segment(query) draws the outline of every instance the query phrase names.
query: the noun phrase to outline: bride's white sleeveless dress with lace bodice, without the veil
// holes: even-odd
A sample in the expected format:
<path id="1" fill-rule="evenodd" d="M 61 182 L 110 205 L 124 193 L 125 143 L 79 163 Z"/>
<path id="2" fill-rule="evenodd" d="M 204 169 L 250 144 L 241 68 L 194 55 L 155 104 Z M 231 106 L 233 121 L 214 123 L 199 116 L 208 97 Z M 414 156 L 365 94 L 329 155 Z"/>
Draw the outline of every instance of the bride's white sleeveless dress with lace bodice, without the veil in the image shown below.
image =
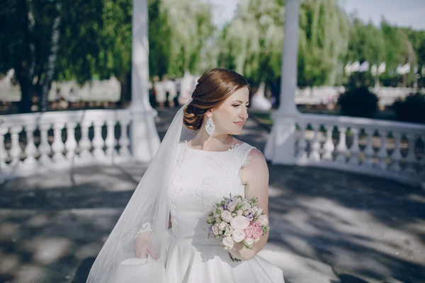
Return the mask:
<path id="1" fill-rule="evenodd" d="M 283 272 L 259 255 L 233 262 L 215 238 L 208 239 L 208 213 L 229 194 L 244 196 L 239 171 L 249 163 L 249 144 L 228 151 L 179 144 L 169 196 L 171 224 L 166 259 L 170 283 L 284 283 Z"/>

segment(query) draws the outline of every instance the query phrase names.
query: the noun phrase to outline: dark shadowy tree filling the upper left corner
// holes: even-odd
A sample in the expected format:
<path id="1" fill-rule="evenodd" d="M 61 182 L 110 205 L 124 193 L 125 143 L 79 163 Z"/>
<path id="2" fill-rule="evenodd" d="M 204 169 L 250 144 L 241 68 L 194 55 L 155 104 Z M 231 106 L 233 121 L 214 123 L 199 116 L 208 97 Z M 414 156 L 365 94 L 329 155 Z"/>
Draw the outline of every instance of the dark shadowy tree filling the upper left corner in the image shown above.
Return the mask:
<path id="1" fill-rule="evenodd" d="M 44 93 L 54 73 L 61 1 L 6 0 L 0 4 L 0 73 L 15 69 L 19 112 L 30 112 L 33 94 Z"/>

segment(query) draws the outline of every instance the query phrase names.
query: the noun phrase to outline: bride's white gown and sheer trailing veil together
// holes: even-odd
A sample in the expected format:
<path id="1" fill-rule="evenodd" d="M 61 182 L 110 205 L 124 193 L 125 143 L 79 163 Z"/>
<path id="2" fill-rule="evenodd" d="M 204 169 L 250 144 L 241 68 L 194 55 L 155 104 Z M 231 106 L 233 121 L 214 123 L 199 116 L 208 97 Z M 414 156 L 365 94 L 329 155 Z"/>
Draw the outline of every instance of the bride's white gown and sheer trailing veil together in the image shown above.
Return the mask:
<path id="1" fill-rule="evenodd" d="M 87 283 L 134 282 L 137 278 L 137 283 L 145 283 L 152 280 L 142 278 L 155 276 L 159 278 L 153 282 L 159 283 L 283 283 L 282 271 L 259 256 L 232 262 L 216 240 L 206 241 L 208 226 L 203 217 L 210 204 L 229 192 L 244 195 L 239 170 L 249 162 L 252 146 L 241 144 L 223 152 L 187 148 L 186 141 L 180 141 L 192 139 L 195 133 L 183 127 L 185 106 L 171 122 L 91 267 Z M 168 231 L 170 214 L 174 217 Z M 154 262 L 135 259 L 134 237 L 147 222 L 152 224 L 150 247 L 159 256 Z M 147 265 L 151 263 L 152 268 Z"/>

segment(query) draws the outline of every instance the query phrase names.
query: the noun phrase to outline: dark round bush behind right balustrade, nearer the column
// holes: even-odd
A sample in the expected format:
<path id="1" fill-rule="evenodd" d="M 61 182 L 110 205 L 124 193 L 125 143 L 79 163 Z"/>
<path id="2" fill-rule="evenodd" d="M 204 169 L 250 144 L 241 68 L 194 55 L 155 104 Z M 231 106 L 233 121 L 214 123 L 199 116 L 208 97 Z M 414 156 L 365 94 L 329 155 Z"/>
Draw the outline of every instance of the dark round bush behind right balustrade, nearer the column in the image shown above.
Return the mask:
<path id="1" fill-rule="evenodd" d="M 353 117 L 373 117 L 378 110 L 378 96 L 366 86 L 349 89 L 338 98 L 342 115 Z"/>

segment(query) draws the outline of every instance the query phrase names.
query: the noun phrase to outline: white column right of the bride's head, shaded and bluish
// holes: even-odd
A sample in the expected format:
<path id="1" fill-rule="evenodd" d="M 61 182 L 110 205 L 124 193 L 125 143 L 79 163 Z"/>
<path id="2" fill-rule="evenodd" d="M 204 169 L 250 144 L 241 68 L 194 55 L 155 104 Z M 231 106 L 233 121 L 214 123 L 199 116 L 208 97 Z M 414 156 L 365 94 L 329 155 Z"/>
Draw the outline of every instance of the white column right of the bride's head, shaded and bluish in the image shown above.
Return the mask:
<path id="1" fill-rule="evenodd" d="M 283 60 L 280 80 L 280 105 L 273 113 L 273 128 L 266 144 L 264 155 L 272 163 L 295 163 L 295 123 L 298 112 L 295 106 L 297 90 L 299 0 L 285 2 L 285 30 Z"/>

